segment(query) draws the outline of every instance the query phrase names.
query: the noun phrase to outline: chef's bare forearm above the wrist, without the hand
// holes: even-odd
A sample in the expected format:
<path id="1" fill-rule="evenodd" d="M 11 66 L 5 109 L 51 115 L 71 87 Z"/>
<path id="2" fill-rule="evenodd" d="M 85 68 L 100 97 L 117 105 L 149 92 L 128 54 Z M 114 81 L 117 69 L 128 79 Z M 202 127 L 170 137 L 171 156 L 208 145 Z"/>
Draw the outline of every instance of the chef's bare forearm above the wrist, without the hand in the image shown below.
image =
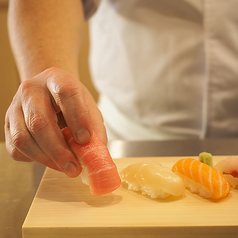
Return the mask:
<path id="1" fill-rule="evenodd" d="M 50 67 L 78 78 L 81 0 L 10 0 L 9 35 L 21 80 Z"/>

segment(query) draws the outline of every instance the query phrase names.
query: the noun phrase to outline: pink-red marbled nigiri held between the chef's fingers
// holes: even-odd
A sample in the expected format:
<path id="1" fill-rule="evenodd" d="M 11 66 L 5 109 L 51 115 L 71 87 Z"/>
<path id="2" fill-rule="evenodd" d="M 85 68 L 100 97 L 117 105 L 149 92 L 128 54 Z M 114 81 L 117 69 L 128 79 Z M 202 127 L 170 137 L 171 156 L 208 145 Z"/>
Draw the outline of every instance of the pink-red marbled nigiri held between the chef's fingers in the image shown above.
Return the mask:
<path id="1" fill-rule="evenodd" d="M 117 189 L 121 179 L 107 147 L 93 133 L 91 141 L 85 145 L 78 144 L 68 127 L 62 133 L 82 165 L 82 181 L 90 186 L 93 195 L 103 195 Z"/>

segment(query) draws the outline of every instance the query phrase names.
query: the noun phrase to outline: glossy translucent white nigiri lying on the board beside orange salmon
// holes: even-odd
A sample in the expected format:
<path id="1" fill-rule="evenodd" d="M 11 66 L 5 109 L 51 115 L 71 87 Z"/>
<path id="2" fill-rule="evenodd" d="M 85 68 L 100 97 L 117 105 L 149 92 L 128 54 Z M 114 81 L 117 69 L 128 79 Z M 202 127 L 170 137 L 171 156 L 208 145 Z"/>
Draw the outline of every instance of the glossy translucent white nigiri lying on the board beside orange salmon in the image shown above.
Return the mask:
<path id="1" fill-rule="evenodd" d="M 120 175 L 122 181 L 128 184 L 129 190 L 152 198 L 180 196 L 185 192 L 183 180 L 160 164 L 131 164 L 124 168 Z"/>

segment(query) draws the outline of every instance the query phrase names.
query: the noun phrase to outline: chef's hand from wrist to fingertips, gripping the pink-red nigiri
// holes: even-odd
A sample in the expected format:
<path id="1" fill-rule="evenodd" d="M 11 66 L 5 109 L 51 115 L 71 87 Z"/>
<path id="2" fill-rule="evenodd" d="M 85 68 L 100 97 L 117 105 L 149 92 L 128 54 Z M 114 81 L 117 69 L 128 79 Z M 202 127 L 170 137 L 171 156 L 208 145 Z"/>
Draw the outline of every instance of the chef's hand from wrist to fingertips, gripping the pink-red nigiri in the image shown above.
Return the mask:
<path id="1" fill-rule="evenodd" d="M 50 68 L 24 81 L 6 113 L 8 153 L 17 161 L 37 161 L 76 177 L 81 166 L 68 147 L 61 127 L 84 144 L 92 132 L 106 144 L 106 131 L 88 90 L 71 74 Z"/>

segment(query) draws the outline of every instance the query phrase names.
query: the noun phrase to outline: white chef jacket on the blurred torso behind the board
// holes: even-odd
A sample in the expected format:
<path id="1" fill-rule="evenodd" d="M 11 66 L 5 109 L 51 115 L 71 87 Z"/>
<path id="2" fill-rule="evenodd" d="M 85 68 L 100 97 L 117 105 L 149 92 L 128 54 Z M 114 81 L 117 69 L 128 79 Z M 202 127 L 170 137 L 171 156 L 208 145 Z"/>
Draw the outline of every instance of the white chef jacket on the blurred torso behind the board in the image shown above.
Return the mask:
<path id="1" fill-rule="evenodd" d="M 237 0 L 84 3 L 112 139 L 238 136 Z"/>

